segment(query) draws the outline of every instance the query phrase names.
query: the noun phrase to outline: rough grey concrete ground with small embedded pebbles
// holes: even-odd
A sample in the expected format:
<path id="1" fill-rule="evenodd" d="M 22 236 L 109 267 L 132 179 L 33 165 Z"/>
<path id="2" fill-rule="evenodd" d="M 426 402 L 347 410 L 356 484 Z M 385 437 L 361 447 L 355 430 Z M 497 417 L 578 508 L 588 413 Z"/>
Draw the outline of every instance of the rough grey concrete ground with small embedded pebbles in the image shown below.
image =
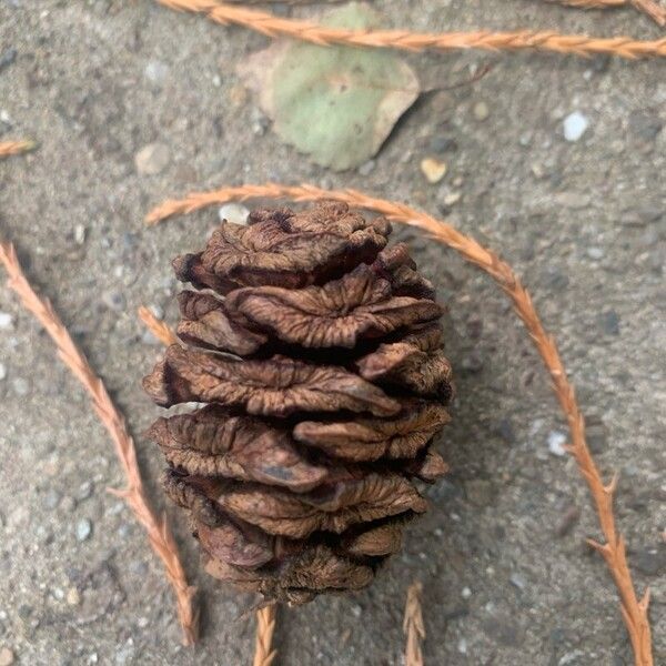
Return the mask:
<path id="1" fill-rule="evenodd" d="M 395 26 L 420 29 L 659 34 L 633 11 L 538 0 L 379 4 Z M 664 64 L 411 57 L 427 88 L 460 82 L 472 65 L 493 69 L 471 88 L 420 101 L 362 176 L 326 173 L 282 147 L 243 94 L 235 65 L 265 43 L 149 0 L 0 0 L 0 134 L 41 143 L 0 164 L 2 235 L 140 433 L 155 410 L 139 381 L 160 349 L 135 309 L 153 305 L 173 322 L 169 260 L 200 245 L 216 219 L 211 210 L 145 229 L 151 204 L 275 179 L 361 186 L 446 215 L 516 266 L 557 334 L 601 465 L 622 475 L 619 525 L 637 584 L 653 588 L 656 663 L 666 663 Z M 474 112 L 480 102 L 485 120 Z M 563 119 L 575 110 L 589 129 L 568 143 Z M 163 170 L 141 175 L 134 157 L 153 142 L 165 147 Z M 436 186 L 418 169 L 431 154 L 448 164 Z M 462 198 L 448 210 L 452 192 Z M 629 664 L 615 592 L 584 545 L 598 535 L 587 494 L 573 461 L 548 450 L 564 426 L 529 341 L 485 276 L 401 235 L 451 309 L 460 397 L 441 448 L 453 473 L 432 488 L 432 512 L 371 589 L 281 613 L 280 664 L 401 664 L 404 595 L 415 578 L 425 585 L 428 664 Z M 204 620 L 199 647 L 180 647 L 160 564 L 105 492 L 122 485 L 105 432 L 3 286 L 0 311 L 12 317 L 0 330 L 3 663 L 11 653 L 20 664 L 248 664 L 253 623 L 241 616 L 253 601 L 201 575 L 182 522 Z M 159 454 L 138 445 L 163 506 Z"/>

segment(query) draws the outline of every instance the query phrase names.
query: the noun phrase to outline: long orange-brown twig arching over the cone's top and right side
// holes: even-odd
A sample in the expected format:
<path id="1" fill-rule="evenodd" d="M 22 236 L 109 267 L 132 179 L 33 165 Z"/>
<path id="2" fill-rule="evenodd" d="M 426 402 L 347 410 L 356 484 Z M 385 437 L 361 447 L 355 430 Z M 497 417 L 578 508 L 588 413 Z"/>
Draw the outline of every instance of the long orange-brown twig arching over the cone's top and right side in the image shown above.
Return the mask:
<path id="1" fill-rule="evenodd" d="M 190 213 L 206 205 L 253 198 L 287 198 L 293 201 L 333 199 L 346 202 L 355 208 L 376 211 L 390 220 L 410 224 L 425 231 L 431 238 L 448 245 L 468 262 L 483 269 L 497 282 L 512 301 L 517 315 L 525 324 L 536 350 L 551 374 L 555 395 L 568 422 L 572 437 L 572 445 L 568 451 L 576 460 L 578 470 L 589 487 L 598 514 L 602 533 L 606 539 L 605 544 L 594 541 L 589 543 L 604 557 L 619 593 L 622 615 L 634 649 L 635 664 L 636 666 L 653 666 L 650 627 L 647 616 L 649 591 L 645 593 L 642 599 L 637 598 L 634 591 L 632 574 L 626 558 L 625 542 L 616 529 L 613 514 L 613 495 L 615 493 L 616 478 L 609 484 L 604 484 L 602 475 L 587 447 L 583 414 L 576 402 L 574 389 L 567 379 L 557 345 L 554 339 L 545 331 L 529 294 L 511 266 L 474 239 L 464 235 L 453 226 L 440 222 L 426 213 L 401 203 L 384 199 L 374 199 L 356 190 L 323 190 L 313 185 L 290 186 L 275 183 L 223 188 L 213 192 L 193 193 L 180 201 L 167 201 L 148 214 L 147 222 L 154 224 L 170 215 Z"/>

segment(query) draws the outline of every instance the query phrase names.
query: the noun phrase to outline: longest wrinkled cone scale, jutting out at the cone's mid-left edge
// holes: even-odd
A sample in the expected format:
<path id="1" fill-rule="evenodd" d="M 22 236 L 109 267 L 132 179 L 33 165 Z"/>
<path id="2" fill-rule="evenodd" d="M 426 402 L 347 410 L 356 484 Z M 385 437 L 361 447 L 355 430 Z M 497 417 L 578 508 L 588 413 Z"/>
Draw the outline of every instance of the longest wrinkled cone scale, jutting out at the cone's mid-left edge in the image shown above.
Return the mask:
<path id="1" fill-rule="evenodd" d="M 240 361 L 171 345 L 143 379 L 143 387 L 164 407 L 183 402 L 243 406 L 250 414 L 287 416 L 297 412 L 371 412 L 391 416 L 400 403 L 355 374 L 284 356 Z"/>

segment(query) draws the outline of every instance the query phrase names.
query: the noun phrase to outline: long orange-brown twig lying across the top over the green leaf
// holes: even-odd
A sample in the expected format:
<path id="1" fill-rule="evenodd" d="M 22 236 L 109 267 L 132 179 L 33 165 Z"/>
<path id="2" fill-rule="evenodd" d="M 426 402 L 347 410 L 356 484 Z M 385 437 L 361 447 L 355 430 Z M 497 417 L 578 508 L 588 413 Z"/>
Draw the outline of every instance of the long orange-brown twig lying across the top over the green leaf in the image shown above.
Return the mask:
<path id="1" fill-rule="evenodd" d="M 410 32 L 408 30 L 351 30 L 330 28 L 312 21 L 280 18 L 272 13 L 232 7 L 216 0 L 155 0 L 170 9 L 205 14 L 223 26 L 236 24 L 268 37 L 290 37 L 320 46 L 347 44 L 423 51 L 435 49 L 536 50 L 576 56 L 610 54 L 620 58 L 665 58 L 666 38 L 640 41 L 630 37 L 597 38 L 586 34 L 559 34 L 549 30 L 515 32 Z"/>

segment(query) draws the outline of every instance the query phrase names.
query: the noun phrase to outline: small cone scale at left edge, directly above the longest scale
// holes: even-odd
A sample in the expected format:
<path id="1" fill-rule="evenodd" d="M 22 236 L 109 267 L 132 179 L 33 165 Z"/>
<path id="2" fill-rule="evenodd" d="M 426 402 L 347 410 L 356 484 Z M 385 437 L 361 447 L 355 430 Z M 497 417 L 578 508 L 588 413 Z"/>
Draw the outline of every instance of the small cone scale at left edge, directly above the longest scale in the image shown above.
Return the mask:
<path id="1" fill-rule="evenodd" d="M 183 342 L 240 356 L 253 354 L 266 342 L 265 335 L 251 331 L 243 317 L 231 315 L 215 296 L 183 291 L 178 302 L 182 320 L 176 332 Z"/>

